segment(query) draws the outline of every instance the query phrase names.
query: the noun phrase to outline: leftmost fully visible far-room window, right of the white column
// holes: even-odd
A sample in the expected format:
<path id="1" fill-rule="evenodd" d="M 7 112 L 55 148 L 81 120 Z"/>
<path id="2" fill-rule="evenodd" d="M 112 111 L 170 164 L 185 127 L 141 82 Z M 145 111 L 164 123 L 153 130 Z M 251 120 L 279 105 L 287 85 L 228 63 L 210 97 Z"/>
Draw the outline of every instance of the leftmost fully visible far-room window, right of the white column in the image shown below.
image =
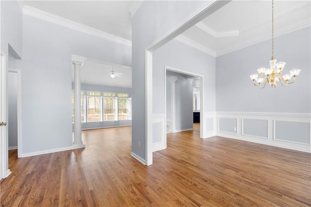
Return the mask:
<path id="1" fill-rule="evenodd" d="M 102 120 L 102 93 L 87 91 L 87 122 Z"/>

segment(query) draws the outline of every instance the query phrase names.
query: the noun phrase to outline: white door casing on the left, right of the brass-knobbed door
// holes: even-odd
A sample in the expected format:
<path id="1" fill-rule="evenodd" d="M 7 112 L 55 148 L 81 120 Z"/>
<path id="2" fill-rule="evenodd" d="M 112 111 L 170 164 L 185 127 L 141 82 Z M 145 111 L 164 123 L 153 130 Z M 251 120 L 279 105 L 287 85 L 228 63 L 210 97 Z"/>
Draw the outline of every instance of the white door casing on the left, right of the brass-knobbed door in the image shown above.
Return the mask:
<path id="1" fill-rule="evenodd" d="M 22 157 L 22 135 L 21 135 L 21 70 L 8 69 L 8 72 L 17 73 L 17 157 Z"/>

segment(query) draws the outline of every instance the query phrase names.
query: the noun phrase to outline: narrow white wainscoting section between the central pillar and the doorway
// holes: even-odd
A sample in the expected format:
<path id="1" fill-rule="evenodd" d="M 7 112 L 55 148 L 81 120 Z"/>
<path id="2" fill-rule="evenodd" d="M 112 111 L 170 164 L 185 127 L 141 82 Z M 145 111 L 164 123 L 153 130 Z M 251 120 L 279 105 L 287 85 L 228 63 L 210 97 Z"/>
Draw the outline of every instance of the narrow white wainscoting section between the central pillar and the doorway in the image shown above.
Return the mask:
<path id="1" fill-rule="evenodd" d="M 152 115 L 152 149 L 153 152 L 166 149 L 165 114 Z"/>

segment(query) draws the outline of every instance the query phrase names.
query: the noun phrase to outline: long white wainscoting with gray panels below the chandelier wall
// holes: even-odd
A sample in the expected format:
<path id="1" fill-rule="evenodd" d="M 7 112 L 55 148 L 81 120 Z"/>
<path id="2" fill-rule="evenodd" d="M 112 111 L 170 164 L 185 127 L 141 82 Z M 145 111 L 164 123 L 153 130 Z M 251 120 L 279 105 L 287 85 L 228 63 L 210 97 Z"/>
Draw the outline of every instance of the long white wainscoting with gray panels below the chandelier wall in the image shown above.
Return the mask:
<path id="1" fill-rule="evenodd" d="M 311 153 L 311 114 L 216 112 L 216 119 L 216 136 Z"/>

